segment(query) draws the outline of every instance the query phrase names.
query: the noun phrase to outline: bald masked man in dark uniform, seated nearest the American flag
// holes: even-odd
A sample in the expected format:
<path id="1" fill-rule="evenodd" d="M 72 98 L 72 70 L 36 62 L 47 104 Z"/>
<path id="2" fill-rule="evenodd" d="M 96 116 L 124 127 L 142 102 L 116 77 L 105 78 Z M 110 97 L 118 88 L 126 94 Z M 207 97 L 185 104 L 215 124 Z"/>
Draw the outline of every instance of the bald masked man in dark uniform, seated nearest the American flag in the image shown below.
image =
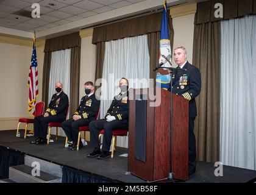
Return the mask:
<path id="1" fill-rule="evenodd" d="M 66 108 L 68 107 L 68 96 L 62 91 L 63 85 L 60 82 L 55 83 L 55 93 L 52 96 L 49 107 L 44 112 L 44 115 L 35 117 L 34 121 L 34 141 L 30 144 L 45 144 L 47 143 L 46 135 L 49 122 L 62 122 L 66 119 Z"/>

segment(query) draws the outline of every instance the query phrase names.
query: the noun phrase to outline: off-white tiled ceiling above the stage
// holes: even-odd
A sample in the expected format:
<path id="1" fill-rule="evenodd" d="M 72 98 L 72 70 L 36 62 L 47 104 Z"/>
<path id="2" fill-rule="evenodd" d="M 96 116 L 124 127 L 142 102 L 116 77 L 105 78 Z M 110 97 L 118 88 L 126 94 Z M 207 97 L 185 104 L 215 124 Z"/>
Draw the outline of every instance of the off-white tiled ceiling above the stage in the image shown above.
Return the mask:
<path id="1" fill-rule="evenodd" d="M 195 0 L 167 0 L 168 6 Z M 32 4 L 40 18 L 32 18 Z M 0 0 L 0 35 L 52 38 L 162 9 L 163 0 Z"/>

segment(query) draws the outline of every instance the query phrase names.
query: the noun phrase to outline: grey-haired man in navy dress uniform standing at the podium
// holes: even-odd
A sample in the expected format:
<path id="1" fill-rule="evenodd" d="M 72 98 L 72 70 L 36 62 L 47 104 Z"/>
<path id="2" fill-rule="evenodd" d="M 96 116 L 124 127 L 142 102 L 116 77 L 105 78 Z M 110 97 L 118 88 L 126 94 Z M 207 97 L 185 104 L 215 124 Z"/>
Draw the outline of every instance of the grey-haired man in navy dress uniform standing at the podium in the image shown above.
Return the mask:
<path id="1" fill-rule="evenodd" d="M 196 171 L 196 138 L 193 130 L 197 111 L 194 98 L 201 91 L 201 74 L 198 68 L 187 61 L 187 51 L 182 46 L 174 49 L 174 60 L 181 70 L 174 71 L 172 76 L 172 93 L 176 93 L 189 101 L 188 174 L 191 176 Z"/>

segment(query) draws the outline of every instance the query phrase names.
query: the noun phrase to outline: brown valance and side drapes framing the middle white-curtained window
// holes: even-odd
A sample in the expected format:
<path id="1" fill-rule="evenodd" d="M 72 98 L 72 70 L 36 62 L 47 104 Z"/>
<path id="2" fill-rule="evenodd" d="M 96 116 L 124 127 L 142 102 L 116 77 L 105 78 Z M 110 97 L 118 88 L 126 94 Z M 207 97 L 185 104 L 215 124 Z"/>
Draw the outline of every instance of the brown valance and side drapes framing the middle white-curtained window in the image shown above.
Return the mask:
<path id="1" fill-rule="evenodd" d="M 150 76 L 155 80 L 156 73 L 152 71 L 159 59 L 159 39 L 161 30 L 162 12 L 148 16 L 128 19 L 118 23 L 109 24 L 93 29 L 93 43 L 97 44 L 97 59 L 95 80 L 102 78 L 105 43 L 104 41 L 116 40 L 119 38 L 133 37 L 148 34 L 148 46 L 150 56 Z M 171 40 L 171 49 L 173 46 L 174 30 L 172 18 L 169 16 L 169 36 Z M 97 90 L 96 87 L 95 89 Z"/>

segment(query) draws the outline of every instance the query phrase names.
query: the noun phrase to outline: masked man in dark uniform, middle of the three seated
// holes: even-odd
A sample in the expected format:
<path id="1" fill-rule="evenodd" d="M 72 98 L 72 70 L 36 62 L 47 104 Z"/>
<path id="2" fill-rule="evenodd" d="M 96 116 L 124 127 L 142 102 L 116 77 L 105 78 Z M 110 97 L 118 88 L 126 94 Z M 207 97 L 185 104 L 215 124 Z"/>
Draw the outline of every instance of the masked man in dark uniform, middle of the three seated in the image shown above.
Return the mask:
<path id="1" fill-rule="evenodd" d="M 99 101 L 93 92 L 93 82 L 88 81 L 85 83 L 85 94 L 71 119 L 62 122 L 62 129 L 66 133 L 69 141 L 73 141 L 73 144 L 69 146 L 72 151 L 76 150 L 77 138 L 80 126 L 87 126 L 89 122 L 94 120 L 96 113 L 99 110 Z M 80 140 L 79 148 L 83 146 Z"/>

